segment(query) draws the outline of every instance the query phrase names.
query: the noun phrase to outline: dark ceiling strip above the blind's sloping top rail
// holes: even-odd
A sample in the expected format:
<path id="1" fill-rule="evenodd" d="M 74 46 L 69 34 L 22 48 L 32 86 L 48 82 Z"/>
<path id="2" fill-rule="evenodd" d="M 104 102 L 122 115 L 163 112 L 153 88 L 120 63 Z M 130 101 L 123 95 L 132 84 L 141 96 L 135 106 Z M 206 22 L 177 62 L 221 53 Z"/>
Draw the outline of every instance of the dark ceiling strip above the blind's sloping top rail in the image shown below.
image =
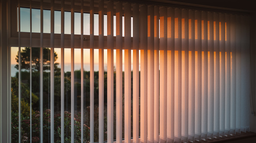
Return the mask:
<path id="1" fill-rule="evenodd" d="M 215 11 L 233 14 L 256 12 L 256 0 L 117 0 L 130 3 Z"/>

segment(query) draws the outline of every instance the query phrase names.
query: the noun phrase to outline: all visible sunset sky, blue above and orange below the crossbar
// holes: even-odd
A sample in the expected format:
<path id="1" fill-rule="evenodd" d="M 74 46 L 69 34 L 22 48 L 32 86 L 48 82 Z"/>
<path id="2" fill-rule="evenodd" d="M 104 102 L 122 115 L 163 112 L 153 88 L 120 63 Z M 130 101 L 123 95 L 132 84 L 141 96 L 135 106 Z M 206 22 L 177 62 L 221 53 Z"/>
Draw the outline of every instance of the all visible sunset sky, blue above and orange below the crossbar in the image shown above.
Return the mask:
<path id="1" fill-rule="evenodd" d="M 50 10 L 43 10 L 43 32 L 50 33 L 51 30 L 51 11 Z M 20 15 L 21 15 L 21 22 L 20 22 L 20 29 L 21 32 L 30 32 L 30 8 L 20 8 Z M 71 12 L 64 13 L 64 33 L 71 34 Z M 75 34 L 81 33 L 81 13 L 75 12 Z M 123 36 L 124 36 L 124 17 L 123 20 Z M 90 35 L 90 14 L 84 13 L 84 35 Z M 131 36 L 133 36 L 133 18 L 131 18 Z M 32 32 L 40 33 L 40 9 L 32 9 Z M 61 33 L 61 12 L 54 11 L 54 33 L 60 34 Z M 94 35 L 98 35 L 98 14 L 94 14 Z M 104 15 L 104 36 L 107 36 L 107 15 Z M 116 36 L 116 16 L 114 16 L 114 36 Z M 65 49 L 65 63 L 71 63 L 71 50 Z M 11 64 L 16 64 L 15 56 L 17 55 L 18 48 L 12 48 L 11 51 Z M 54 52 L 57 53 L 58 59 L 56 62 L 60 63 L 60 48 L 54 48 Z M 94 50 L 94 62 L 98 64 L 98 49 Z M 107 50 L 104 50 L 104 63 L 107 63 Z M 131 54 L 131 58 L 133 55 Z M 14 57 L 14 58 L 13 58 Z M 114 63 L 116 58 L 116 52 L 114 52 Z M 75 61 L 76 64 L 81 62 L 81 50 L 75 49 Z M 84 49 L 84 63 L 90 63 L 90 50 Z M 124 50 L 123 50 L 123 63 L 124 63 Z"/>

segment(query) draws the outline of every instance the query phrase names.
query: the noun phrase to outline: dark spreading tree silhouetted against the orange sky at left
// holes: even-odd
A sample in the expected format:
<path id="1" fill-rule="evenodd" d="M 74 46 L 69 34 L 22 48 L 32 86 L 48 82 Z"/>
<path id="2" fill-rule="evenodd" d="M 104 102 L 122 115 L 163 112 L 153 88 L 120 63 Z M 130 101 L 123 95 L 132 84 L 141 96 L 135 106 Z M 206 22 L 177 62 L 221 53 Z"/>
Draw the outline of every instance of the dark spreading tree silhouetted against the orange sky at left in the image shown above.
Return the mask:
<path id="1" fill-rule="evenodd" d="M 50 53 L 51 50 L 49 48 L 43 48 L 43 71 L 50 70 Z M 30 48 L 25 47 L 20 54 L 21 69 L 30 70 Z M 54 62 L 57 58 L 57 54 L 54 52 Z M 19 63 L 19 53 L 15 59 L 17 63 Z M 58 65 L 59 63 L 54 63 L 54 71 L 59 71 L 59 68 L 57 68 Z M 18 70 L 19 64 L 17 64 L 15 68 Z M 32 71 L 40 71 L 40 48 L 32 48 Z"/>

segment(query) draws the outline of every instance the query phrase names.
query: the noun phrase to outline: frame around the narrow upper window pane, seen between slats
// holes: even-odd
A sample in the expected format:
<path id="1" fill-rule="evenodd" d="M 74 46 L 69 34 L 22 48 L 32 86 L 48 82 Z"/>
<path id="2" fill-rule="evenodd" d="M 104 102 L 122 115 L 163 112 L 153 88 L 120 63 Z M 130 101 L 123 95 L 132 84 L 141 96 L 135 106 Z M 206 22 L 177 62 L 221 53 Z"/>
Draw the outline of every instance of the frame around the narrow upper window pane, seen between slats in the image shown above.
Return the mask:
<path id="1" fill-rule="evenodd" d="M 30 8 L 28 3 L 24 1 L 20 1 L 20 7 L 21 8 Z M 88 2 L 88 1 L 87 1 Z M 51 3 L 44 2 L 43 9 L 44 10 L 50 10 Z M 85 3 L 84 4 L 84 13 L 90 13 L 90 4 Z M 105 4 L 106 5 L 106 4 Z M 70 5 L 65 2 L 64 11 L 70 12 Z M 11 3 L 11 36 L 9 37 L 9 45 L 10 47 L 18 47 L 18 17 L 17 17 L 17 9 L 18 9 L 18 1 L 15 0 L 13 3 Z M 40 9 L 40 2 L 34 2 L 32 1 L 32 9 Z M 56 11 L 61 10 L 61 5 L 55 3 L 54 9 Z M 98 7 L 94 7 L 95 14 L 98 11 Z M 115 13 L 114 8 L 114 13 Z M 75 12 L 80 13 L 80 6 L 75 5 Z M 107 14 L 107 9 L 104 8 L 104 15 Z M 21 47 L 28 47 L 30 46 L 30 32 L 20 32 L 20 41 L 21 41 Z M 84 37 L 84 43 L 83 47 L 85 49 L 90 48 L 90 35 L 83 35 Z M 71 48 L 71 34 L 64 34 L 64 48 Z M 94 48 L 98 49 L 99 45 L 99 36 L 94 35 Z M 51 33 L 43 33 L 43 47 L 51 47 Z M 114 49 L 116 49 L 116 36 L 114 36 Z M 131 42 L 133 42 L 133 37 L 131 37 Z M 75 34 L 75 47 L 74 48 L 81 48 L 81 35 Z M 122 37 L 122 43 L 124 45 L 124 37 Z M 40 47 L 40 33 L 32 32 L 32 47 Z M 61 47 L 61 34 L 54 34 L 54 48 L 62 48 Z M 133 44 L 131 45 L 131 48 L 133 49 Z M 107 49 L 107 36 L 104 36 L 104 49 Z M 124 49 L 124 47 L 123 47 Z"/>

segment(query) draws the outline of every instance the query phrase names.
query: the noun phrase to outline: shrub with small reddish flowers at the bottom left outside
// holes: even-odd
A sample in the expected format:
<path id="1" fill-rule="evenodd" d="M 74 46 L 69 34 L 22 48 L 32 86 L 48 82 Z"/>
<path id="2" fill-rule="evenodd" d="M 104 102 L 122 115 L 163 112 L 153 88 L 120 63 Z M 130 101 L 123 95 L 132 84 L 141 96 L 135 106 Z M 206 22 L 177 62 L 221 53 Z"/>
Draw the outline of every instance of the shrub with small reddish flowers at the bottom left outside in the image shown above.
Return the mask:
<path id="1" fill-rule="evenodd" d="M 51 131 L 51 110 L 45 110 L 43 112 L 43 140 L 48 142 Z M 74 131 L 75 142 L 81 142 L 81 113 L 75 115 Z M 65 138 L 64 142 L 69 143 L 71 141 L 71 113 L 64 112 L 64 130 Z M 19 114 L 16 112 L 11 113 L 11 142 L 19 142 Z M 90 141 L 90 128 L 84 124 L 83 126 L 83 141 Z M 54 115 L 54 142 L 60 143 L 61 137 L 61 116 Z M 32 143 L 38 143 L 40 140 L 40 112 L 35 111 L 32 113 Z M 30 142 L 30 116 L 24 116 L 21 114 L 21 142 Z"/>

